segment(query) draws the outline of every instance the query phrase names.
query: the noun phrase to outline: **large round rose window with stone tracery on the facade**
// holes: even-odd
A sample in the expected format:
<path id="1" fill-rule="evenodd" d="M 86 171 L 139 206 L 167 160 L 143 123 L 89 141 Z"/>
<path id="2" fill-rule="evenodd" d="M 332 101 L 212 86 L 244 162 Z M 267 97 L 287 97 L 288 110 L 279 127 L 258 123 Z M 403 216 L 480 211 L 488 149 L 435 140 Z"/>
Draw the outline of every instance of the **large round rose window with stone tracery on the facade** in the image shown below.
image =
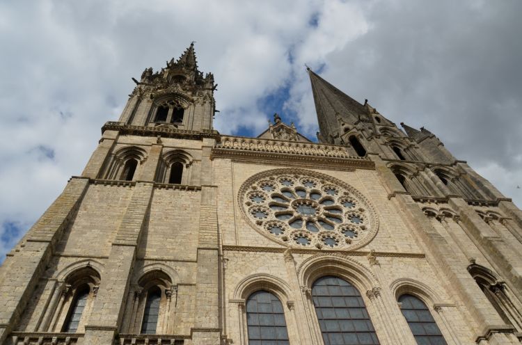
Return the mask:
<path id="1" fill-rule="evenodd" d="M 354 187 L 311 170 L 260 172 L 244 182 L 238 201 L 256 231 L 289 248 L 354 250 L 379 228 L 374 207 Z"/>

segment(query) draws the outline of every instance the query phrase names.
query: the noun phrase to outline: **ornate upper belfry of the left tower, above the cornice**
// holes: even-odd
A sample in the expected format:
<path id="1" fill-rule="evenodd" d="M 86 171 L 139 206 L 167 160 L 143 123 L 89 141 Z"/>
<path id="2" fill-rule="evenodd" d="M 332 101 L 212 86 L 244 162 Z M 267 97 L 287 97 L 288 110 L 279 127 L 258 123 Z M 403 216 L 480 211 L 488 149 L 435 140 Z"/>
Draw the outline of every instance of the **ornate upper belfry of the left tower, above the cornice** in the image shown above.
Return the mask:
<path id="1" fill-rule="evenodd" d="M 212 129 L 214 76 L 198 70 L 194 45 L 166 67 L 146 68 L 120 116 L 126 125 L 203 131 Z"/>

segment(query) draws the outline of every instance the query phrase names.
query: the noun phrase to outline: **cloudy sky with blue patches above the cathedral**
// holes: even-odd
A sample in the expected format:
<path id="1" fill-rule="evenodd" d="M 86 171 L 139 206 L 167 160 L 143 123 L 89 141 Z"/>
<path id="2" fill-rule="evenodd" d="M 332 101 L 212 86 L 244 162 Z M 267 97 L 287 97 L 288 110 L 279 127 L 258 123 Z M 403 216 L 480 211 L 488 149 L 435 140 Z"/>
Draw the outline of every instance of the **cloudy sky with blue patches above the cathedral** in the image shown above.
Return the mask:
<path id="1" fill-rule="evenodd" d="M 0 1 L 0 262 L 117 120 L 145 67 L 196 41 L 216 129 L 278 112 L 315 137 L 306 63 L 425 126 L 522 205 L 522 1 Z"/>

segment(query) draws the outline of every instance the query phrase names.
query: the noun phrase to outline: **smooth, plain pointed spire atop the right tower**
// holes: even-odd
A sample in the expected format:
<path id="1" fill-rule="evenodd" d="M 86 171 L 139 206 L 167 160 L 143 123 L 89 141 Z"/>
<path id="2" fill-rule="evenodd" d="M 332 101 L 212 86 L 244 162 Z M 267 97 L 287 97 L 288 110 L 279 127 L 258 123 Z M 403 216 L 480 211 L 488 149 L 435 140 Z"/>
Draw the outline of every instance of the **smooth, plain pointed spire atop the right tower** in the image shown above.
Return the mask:
<path id="1" fill-rule="evenodd" d="M 319 77 L 310 67 L 306 67 L 312 83 L 315 111 L 319 121 L 319 129 L 324 138 L 333 142 L 340 133 L 338 118 L 347 124 L 353 124 L 368 114 L 367 108 L 349 97 L 331 83 Z"/>

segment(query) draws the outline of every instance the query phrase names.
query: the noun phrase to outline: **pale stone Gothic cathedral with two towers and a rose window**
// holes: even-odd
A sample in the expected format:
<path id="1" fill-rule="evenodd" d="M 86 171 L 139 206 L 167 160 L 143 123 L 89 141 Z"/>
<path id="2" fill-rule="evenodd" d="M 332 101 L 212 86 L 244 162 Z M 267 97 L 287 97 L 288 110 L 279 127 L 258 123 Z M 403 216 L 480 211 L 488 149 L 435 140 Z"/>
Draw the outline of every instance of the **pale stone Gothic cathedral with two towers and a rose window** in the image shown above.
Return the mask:
<path id="1" fill-rule="evenodd" d="M 307 72 L 317 143 L 216 131 L 193 45 L 145 69 L 1 266 L 0 344 L 520 345 L 522 211 Z"/>

